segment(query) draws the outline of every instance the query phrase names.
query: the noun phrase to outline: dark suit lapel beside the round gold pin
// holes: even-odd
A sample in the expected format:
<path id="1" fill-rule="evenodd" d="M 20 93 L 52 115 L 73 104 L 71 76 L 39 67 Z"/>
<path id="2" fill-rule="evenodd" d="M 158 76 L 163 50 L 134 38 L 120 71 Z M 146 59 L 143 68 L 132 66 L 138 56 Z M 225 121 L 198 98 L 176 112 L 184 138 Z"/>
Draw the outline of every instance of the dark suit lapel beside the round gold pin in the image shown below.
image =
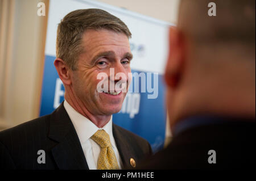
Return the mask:
<path id="1" fill-rule="evenodd" d="M 123 169 L 132 169 L 130 165 L 130 158 L 135 158 L 135 154 L 131 153 L 131 149 L 129 148 L 129 143 L 127 142 L 127 138 L 125 138 L 121 131 L 119 131 L 117 125 L 113 124 L 113 136 L 115 139 L 115 144 L 117 144 L 117 149 L 119 155 L 122 159 Z"/>

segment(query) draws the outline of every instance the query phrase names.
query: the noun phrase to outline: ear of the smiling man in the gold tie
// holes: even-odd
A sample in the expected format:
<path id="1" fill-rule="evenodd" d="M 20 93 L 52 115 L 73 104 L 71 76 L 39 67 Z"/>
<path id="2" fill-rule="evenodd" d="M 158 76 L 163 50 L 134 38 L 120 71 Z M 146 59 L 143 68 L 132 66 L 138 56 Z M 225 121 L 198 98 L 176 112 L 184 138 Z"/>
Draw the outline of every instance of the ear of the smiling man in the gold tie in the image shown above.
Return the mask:
<path id="1" fill-rule="evenodd" d="M 60 58 L 55 59 L 54 65 L 64 85 L 71 85 L 71 69 Z"/>

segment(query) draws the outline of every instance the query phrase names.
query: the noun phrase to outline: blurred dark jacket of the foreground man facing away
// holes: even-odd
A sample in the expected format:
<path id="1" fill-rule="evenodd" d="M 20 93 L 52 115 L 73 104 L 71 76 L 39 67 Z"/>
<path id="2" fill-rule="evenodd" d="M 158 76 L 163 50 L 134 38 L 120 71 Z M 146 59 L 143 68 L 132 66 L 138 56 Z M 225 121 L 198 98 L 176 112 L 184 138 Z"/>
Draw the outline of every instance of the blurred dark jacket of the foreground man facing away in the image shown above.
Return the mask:
<path id="1" fill-rule="evenodd" d="M 254 120 L 255 121 L 255 120 Z M 216 151 L 216 163 L 209 163 Z M 212 161 L 212 157 L 210 157 Z M 255 123 L 223 120 L 180 132 L 166 149 L 147 159 L 137 169 L 253 169 L 255 168 Z"/>

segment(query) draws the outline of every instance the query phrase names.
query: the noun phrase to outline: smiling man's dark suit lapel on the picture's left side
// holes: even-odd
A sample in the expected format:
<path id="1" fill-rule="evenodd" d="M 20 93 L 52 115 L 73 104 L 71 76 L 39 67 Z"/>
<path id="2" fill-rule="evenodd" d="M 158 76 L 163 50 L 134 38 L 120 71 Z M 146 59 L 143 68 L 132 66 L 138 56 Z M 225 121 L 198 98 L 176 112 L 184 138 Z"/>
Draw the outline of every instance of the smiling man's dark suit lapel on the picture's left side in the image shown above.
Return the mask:
<path id="1" fill-rule="evenodd" d="M 89 169 L 79 137 L 63 103 L 51 115 L 48 137 L 58 142 L 51 151 L 59 169 Z"/>

